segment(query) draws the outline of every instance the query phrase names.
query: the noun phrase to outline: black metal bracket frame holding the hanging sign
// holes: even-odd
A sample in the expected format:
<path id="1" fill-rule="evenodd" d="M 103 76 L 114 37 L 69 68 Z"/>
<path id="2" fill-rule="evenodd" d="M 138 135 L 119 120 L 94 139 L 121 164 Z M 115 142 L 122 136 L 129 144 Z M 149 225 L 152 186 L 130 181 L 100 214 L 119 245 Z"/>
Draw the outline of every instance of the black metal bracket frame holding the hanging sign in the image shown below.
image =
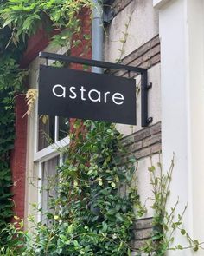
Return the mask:
<path id="1" fill-rule="evenodd" d="M 118 63 L 112 63 L 112 62 L 100 62 L 95 60 L 88 60 L 83 59 L 79 57 L 73 57 L 73 56 L 64 56 L 54 53 L 48 53 L 48 52 L 40 52 L 39 53 L 40 58 L 45 58 L 47 60 L 54 60 L 54 61 L 61 61 L 61 62 L 68 62 L 68 63 L 79 63 L 87 66 L 92 67 L 99 67 L 104 69 L 120 69 L 120 70 L 126 70 L 129 72 L 135 72 L 137 74 L 141 75 L 141 126 L 147 127 L 150 122 L 152 122 L 152 117 L 148 117 L 148 90 L 151 87 L 151 83 L 148 83 L 148 73 L 147 69 L 133 67 L 133 66 L 127 66 L 123 64 Z"/>

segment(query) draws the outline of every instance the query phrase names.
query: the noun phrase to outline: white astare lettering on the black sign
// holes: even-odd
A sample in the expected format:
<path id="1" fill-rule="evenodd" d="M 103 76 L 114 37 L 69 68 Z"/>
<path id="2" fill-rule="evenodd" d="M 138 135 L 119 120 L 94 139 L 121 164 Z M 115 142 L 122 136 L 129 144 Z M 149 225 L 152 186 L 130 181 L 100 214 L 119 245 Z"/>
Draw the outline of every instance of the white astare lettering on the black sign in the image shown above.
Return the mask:
<path id="1" fill-rule="evenodd" d="M 61 84 L 56 84 L 53 87 L 53 94 L 56 97 L 63 97 L 65 98 L 67 95 L 67 88 L 62 86 Z M 57 91 L 56 91 L 57 90 Z M 72 86 L 68 89 L 68 97 L 72 100 L 76 99 L 80 96 L 81 101 L 86 101 L 89 100 L 91 102 L 113 102 L 116 105 L 122 105 L 124 103 L 124 95 L 116 92 L 113 95 L 111 95 L 110 91 L 106 91 L 104 93 L 101 93 L 97 89 L 91 89 L 86 92 L 86 89 L 84 86 L 80 87 L 80 92 L 79 94 L 77 93 L 76 87 Z"/>

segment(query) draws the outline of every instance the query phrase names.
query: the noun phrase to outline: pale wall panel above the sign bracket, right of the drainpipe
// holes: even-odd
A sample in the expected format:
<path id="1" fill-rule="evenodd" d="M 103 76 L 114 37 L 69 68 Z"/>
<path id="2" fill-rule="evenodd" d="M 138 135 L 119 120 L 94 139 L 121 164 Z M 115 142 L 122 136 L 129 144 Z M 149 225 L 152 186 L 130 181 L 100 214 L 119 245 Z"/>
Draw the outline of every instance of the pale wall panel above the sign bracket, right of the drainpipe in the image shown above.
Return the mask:
<path id="1" fill-rule="evenodd" d="M 139 48 L 158 35 L 158 12 L 152 6 L 152 0 L 134 0 L 112 20 L 105 39 L 105 61 L 116 62 L 124 38 L 125 24 L 131 16 L 128 27 L 124 56 Z"/>

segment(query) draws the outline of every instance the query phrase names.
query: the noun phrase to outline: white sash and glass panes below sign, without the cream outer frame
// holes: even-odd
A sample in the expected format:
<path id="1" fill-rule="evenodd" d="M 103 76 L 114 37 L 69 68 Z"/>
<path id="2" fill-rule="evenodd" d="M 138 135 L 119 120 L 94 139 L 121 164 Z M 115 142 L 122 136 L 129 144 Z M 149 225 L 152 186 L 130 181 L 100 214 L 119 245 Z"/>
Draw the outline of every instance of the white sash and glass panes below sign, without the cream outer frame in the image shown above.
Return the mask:
<path id="1" fill-rule="evenodd" d="M 37 149 L 35 161 L 39 170 L 38 181 L 38 206 L 42 209 L 38 220 L 48 225 L 46 215 L 43 213 L 52 212 L 49 200 L 56 198 L 54 184 L 57 181 L 57 166 L 63 162 L 63 155 L 59 148 L 67 146 L 69 121 L 67 118 L 58 116 L 45 116 L 45 120 L 38 116 Z"/>

